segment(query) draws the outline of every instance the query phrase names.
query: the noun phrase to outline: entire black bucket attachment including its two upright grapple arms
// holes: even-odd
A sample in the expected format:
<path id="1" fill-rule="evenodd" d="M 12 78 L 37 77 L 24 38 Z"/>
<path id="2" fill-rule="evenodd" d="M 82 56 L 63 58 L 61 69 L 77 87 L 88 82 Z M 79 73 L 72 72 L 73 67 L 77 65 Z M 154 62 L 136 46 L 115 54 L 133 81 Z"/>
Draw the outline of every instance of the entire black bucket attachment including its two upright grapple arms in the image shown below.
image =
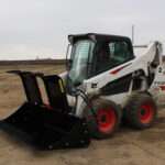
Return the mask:
<path id="1" fill-rule="evenodd" d="M 1 121 L 3 130 L 42 150 L 89 145 L 90 136 L 86 120 L 69 113 L 65 88 L 58 76 L 43 76 L 28 72 L 10 73 L 21 77 L 28 101 Z M 44 80 L 50 106 L 43 103 L 36 76 Z"/>

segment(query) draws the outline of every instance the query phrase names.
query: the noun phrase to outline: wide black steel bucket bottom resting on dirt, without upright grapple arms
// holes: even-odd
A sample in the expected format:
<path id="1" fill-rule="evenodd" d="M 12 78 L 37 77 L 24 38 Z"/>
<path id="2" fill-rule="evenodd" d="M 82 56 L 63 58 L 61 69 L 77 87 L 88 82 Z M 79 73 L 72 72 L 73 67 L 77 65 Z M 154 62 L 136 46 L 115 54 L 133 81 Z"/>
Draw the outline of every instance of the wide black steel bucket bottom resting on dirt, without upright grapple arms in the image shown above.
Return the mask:
<path id="1" fill-rule="evenodd" d="M 86 147 L 90 142 L 84 119 L 30 103 L 3 120 L 1 128 L 42 150 Z"/>

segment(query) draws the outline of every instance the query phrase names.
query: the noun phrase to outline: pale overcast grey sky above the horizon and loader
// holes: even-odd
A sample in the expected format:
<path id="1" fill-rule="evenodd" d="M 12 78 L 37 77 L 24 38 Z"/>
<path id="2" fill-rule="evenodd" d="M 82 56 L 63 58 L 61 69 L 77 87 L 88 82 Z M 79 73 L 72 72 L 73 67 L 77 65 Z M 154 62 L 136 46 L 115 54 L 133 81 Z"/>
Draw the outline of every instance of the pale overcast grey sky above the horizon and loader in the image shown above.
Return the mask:
<path id="1" fill-rule="evenodd" d="M 0 59 L 65 58 L 67 35 L 165 42 L 165 0 L 0 0 Z"/>

